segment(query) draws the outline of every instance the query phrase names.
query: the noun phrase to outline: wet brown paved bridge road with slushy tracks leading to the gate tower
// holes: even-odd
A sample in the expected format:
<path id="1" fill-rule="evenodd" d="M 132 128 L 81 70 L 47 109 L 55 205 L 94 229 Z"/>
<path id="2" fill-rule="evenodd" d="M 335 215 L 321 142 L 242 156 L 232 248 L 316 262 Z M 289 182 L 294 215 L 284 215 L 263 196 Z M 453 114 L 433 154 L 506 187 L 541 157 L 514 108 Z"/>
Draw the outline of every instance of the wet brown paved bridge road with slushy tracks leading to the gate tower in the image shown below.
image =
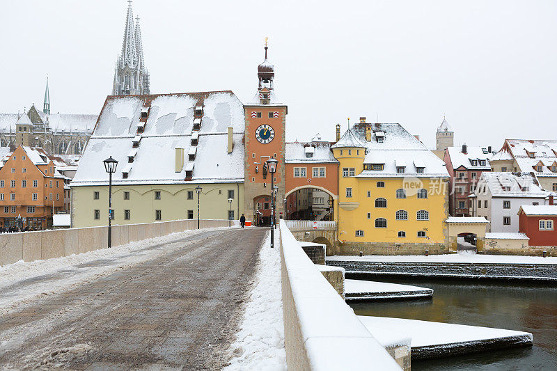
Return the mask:
<path id="1" fill-rule="evenodd" d="M 0 311 L 0 369 L 220 369 L 266 232 L 202 230 L 146 246 L 159 253 Z M 64 271 L 3 287 L 0 297 L 63 283 Z"/>

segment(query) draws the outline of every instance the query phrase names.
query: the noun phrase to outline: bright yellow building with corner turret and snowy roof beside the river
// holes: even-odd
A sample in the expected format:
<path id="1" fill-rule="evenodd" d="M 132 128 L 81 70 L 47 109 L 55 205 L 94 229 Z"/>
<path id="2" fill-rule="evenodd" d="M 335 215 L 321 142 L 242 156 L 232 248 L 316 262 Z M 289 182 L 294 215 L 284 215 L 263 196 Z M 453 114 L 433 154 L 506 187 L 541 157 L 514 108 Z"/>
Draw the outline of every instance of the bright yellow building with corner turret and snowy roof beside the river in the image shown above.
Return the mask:
<path id="1" fill-rule="evenodd" d="M 448 172 L 399 124 L 359 124 L 332 146 L 340 161 L 340 254 L 448 251 Z"/>

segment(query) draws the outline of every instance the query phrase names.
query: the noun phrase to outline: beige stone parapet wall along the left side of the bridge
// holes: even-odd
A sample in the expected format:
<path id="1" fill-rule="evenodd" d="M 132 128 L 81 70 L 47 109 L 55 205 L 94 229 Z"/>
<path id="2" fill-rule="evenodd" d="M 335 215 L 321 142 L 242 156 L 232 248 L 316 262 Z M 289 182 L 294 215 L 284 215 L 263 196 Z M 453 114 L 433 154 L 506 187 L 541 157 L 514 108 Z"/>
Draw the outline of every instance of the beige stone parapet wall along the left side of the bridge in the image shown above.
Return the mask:
<path id="1" fill-rule="evenodd" d="M 233 221 L 237 224 L 237 221 Z M 228 220 L 202 220 L 201 228 L 228 227 Z M 197 228 L 197 220 L 164 221 L 112 227 L 112 246 Z M 0 234 L 0 266 L 19 260 L 58 258 L 106 248 L 109 228 L 70 228 Z"/>

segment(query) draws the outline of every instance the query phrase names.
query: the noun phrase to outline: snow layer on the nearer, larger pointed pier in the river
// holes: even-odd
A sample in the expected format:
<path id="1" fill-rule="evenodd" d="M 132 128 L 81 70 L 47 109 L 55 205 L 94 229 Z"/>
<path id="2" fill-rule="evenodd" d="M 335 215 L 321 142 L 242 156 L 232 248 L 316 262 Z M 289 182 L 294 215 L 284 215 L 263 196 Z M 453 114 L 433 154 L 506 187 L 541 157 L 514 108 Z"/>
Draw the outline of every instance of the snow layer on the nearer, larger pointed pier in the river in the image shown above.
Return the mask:
<path id="1" fill-rule="evenodd" d="M 509 336 L 528 336 L 532 334 L 522 331 L 493 329 L 490 327 L 467 326 L 464 324 L 446 324 L 441 322 L 419 321 L 391 317 L 372 317 L 359 315 L 360 321 L 375 336 L 375 329 L 407 333 L 411 338 L 411 347 L 427 347 L 431 345 L 448 345 L 457 342 L 477 342 Z M 378 334 L 378 338 L 381 338 Z"/>

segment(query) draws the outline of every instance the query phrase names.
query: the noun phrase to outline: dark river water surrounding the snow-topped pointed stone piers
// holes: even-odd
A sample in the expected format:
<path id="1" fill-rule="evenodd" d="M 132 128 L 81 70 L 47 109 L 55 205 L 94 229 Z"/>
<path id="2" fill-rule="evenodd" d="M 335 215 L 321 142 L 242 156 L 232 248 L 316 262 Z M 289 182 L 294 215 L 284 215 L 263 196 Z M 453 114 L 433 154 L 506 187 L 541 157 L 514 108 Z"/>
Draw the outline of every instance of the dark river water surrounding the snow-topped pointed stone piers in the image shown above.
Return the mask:
<path id="1" fill-rule="evenodd" d="M 357 315 L 400 317 L 527 331 L 533 347 L 412 361 L 417 370 L 557 370 L 557 287 L 416 279 L 377 281 L 430 287 L 433 299 L 350 303 Z"/>

